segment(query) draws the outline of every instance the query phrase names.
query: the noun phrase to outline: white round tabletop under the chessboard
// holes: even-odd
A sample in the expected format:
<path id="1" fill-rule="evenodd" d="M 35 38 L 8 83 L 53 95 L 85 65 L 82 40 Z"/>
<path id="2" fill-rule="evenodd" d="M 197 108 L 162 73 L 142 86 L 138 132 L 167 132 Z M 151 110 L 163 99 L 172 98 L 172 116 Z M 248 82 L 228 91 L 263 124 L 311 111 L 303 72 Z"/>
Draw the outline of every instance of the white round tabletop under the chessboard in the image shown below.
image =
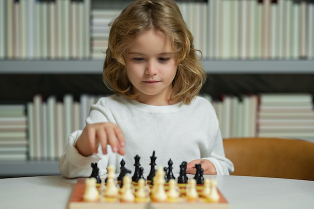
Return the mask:
<path id="1" fill-rule="evenodd" d="M 193 175 L 189 175 L 193 177 Z M 314 181 L 206 175 L 233 208 L 314 208 Z M 0 208 L 67 208 L 76 179 L 61 175 L 0 179 Z"/>

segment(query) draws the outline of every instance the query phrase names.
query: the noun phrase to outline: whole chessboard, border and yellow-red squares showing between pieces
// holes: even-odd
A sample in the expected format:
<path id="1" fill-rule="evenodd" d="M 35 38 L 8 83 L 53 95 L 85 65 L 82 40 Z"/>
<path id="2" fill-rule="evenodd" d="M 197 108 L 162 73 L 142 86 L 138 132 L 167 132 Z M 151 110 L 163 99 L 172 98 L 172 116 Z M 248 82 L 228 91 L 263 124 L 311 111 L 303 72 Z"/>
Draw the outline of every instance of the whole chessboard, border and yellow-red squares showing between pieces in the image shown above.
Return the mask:
<path id="1" fill-rule="evenodd" d="M 106 209 L 119 209 L 119 208 L 143 208 L 143 209 L 170 209 L 170 208 L 191 208 L 195 207 L 198 209 L 214 209 L 214 208 L 229 208 L 229 203 L 222 194 L 222 192 L 217 188 L 218 194 L 219 194 L 219 200 L 216 202 L 211 202 L 204 200 L 201 196 L 201 192 L 204 188 L 204 185 L 197 184 L 196 190 L 199 194 L 199 198 L 195 201 L 188 201 L 186 198 L 186 188 L 187 183 L 178 183 L 178 187 L 180 189 L 180 198 L 176 201 L 164 201 L 164 202 L 154 202 L 151 199 L 148 199 L 148 201 L 144 202 L 122 202 L 121 199 L 106 199 L 100 195 L 100 198 L 95 201 L 86 201 L 84 200 L 83 196 L 86 190 L 86 177 L 80 177 L 77 179 L 77 182 L 75 184 L 75 187 L 72 191 L 72 194 L 70 196 L 68 208 L 69 209 L 81 209 L 81 208 L 91 208 L 91 209 L 100 209 L 100 208 L 106 208 Z M 116 182 L 118 185 L 120 181 Z M 137 189 L 137 182 L 132 182 L 132 185 L 134 186 L 134 189 Z M 147 185 L 149 188 L 152 188 L 152 185 L 149 181 L 147 181 Z M 101 189 L 101 184 L 97 183 L 96 188 L 98 189 L 99 193 Z M 165 183 L 165 190 L 167 191 L 169 188 L 168 183 Z"/>

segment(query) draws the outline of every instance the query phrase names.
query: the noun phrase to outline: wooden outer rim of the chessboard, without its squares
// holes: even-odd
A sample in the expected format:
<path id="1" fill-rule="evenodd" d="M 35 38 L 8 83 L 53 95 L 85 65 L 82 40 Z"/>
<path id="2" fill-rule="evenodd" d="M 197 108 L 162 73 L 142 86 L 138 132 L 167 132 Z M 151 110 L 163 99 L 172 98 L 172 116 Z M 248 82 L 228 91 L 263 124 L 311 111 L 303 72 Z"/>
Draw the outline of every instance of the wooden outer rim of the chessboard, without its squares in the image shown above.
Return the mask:
<path id="1" fill-rule="evenodd" d="M 83 195 L 85 191 L 85 180 L 86 178 L 78 178 L 77 182 L 73 188 L 72 194 L 70 196 L 68 209 L 83 209 L 83 208 L 91 208 L 91 209 L 191 209 L 192 207 L 198 209 L 229 209 L 229 203 L 221 191 L 218 189 L 218 193 L 220 195 L 219 202 L 188 202 L 186 200 L 180 202 L 106 202 L 106 201 L 95 201 L 95 202 L 87 202 L 83 200 Z"/>

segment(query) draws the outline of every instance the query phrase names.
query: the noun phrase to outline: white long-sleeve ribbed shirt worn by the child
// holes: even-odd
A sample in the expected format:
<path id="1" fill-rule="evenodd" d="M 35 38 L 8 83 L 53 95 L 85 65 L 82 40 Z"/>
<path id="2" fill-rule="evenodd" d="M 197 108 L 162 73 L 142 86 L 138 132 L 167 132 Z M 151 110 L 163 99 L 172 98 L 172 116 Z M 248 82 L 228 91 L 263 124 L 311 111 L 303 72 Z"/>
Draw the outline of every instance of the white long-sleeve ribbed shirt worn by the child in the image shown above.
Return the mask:
<path id="1" fill-rule="evenodd" d="M 225 157 L 215 109 L 203 97 L 195 97 L 189 105 L 178 103 L 166 106 L 148 105 L 117 95 L 102 97 L 91 106 L 86 124 L 107 121 L 116 123 L 122 129 L 125 155 L 112 152 L 109 145 L 107 154 L 103 154 L 99 146 L 97 154 L 81 155 L 75 143 L 82 130 L 77 130 L 70 134 L 60 158 L 62 175 L 89 176 L 92 162 L 98 162 L 100 175 L 106 173 L 108 164 L 113 164 L 118 173 L 122 158 L 132 174 L 137 154 L 144 173 L 149 173 L 153 151 L 157 157 L 156 168 L 168 167 L 171 159 L 174 173 L 179 173 L 183 161 L 200 158 L 211 160 L 217 174 L 228 175 L 234 170 L 233 163 Z"/>

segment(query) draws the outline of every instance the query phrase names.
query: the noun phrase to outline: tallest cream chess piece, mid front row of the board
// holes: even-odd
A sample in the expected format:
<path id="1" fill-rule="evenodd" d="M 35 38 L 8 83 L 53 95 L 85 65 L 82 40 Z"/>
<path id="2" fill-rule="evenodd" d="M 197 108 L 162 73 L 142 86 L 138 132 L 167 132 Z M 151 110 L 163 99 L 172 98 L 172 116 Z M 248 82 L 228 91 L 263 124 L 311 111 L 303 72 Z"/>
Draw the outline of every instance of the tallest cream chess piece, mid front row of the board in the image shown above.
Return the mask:
<path id="1" fill-rule="evenodd" d="M 165 191 L 165 171 L 163 167 L 159 167 L 153 178 L 154 185 L 151 190 L 151 200 L 154 202 L 165 202 L 167 193 Z"/>

